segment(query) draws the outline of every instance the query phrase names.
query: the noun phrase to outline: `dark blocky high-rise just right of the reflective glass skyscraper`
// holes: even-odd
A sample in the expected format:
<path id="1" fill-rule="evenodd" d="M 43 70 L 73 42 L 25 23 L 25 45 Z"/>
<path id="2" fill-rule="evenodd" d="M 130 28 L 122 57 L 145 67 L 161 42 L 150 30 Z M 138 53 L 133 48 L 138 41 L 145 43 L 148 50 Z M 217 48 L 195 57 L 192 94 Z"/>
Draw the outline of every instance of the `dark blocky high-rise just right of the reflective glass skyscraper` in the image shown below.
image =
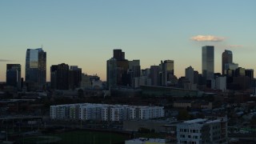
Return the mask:
<path id="1" fill-rule="evenodd" d="M 50 83 L 53 89 L 69 90 L 69 65 L 62 63 L 50 66 Z"/>

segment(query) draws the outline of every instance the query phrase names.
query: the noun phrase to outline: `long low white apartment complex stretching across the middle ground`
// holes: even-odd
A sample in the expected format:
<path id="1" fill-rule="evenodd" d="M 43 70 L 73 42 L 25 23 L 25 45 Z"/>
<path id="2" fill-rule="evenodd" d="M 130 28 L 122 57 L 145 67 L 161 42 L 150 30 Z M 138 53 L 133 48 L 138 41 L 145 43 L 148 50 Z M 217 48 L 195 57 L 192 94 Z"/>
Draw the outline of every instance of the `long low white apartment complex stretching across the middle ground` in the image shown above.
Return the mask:
<path id="1" fill-rule="evenodd" d="M 54 120 L 99 120 L 118 122 L 146 120 L 164 117 L 163 106 L 129 106 L 79 103 L 50 106 L 50 118 Z"/>

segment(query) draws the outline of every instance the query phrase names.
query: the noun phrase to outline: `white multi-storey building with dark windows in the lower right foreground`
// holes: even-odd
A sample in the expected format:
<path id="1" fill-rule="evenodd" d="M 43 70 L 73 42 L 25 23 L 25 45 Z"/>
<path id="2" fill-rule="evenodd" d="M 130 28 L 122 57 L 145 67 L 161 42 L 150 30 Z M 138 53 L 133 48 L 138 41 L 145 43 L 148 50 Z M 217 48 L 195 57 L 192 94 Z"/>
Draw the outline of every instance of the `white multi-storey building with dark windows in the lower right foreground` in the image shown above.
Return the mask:
<path id="1" fill-rule="evenodd" d="M 226 118 L 194 119 L 177 125 L 178 144 L 227 143 Z"/>

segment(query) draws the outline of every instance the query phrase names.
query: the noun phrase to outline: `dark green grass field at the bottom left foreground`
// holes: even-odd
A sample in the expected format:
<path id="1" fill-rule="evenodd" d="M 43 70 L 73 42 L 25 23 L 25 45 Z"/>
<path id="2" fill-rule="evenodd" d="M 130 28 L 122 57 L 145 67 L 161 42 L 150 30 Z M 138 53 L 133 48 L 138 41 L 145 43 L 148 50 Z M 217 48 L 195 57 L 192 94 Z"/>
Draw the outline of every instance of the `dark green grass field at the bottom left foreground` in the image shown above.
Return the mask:
<path id="1" fill-rule="evenodd" d="M 88 131 L 88 130 L 76 130 L 65 133 L 58 134 L 46 134 L 44 136 L 49 136 L 49 138 L 42 138 L 42 136 L 34 136 L 19 139 L 21 143 L 37 143 L 45 141 L 46 143 L 124 143 L 126 139 L 129 139 L 128 135 L 116 134 L 111 132 L 98 132 L 98 131 Z M 54 140 L 58 139 L 58 142 Z"/>

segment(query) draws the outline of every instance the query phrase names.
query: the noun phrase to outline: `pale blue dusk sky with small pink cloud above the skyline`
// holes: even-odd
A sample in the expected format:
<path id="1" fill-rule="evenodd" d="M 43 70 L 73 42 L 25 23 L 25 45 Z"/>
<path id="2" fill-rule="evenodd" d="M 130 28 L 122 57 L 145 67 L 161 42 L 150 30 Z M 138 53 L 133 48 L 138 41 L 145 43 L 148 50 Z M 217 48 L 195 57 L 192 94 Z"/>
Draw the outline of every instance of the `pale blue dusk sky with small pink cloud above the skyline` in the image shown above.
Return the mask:
<path id="1" fill-rule="evenodd" d="M 42 47 L 50 66 L 66 63 L 106 80 L 114 49 L 140 59 L 142 69 L 174 60 L 181 77 L 192 66 L 202 73 L 202 46 L 214 46 L 214 71 L 222 52 L 255 69 L 255 0 L 2 0 L 0 1 L 0 81 L 6 64 L 22 65 L 26 49 Z M 255 69 L 256 70 L 256 69 Z"/>

